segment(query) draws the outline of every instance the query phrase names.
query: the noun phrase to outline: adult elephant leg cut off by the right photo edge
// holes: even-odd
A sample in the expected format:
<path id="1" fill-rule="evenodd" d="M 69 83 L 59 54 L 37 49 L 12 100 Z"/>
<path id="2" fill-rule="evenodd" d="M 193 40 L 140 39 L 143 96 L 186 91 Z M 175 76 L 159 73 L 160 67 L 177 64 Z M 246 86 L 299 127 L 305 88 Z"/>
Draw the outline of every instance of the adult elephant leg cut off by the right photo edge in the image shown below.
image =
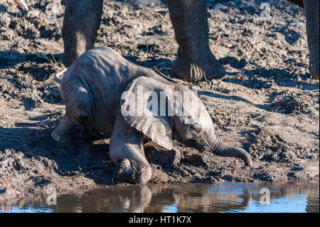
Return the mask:
<path id="1" fill-rule="evenodd" d="M 319 0 L 304 0 L 311 78 L 319 80 Z"/>

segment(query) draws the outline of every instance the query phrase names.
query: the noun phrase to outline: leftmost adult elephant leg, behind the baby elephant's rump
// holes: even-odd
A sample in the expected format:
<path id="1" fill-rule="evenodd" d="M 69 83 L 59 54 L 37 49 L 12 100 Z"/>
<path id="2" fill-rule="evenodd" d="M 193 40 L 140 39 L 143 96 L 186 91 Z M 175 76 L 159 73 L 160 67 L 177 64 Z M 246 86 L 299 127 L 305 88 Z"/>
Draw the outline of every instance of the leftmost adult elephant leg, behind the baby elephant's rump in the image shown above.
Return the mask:
<path id="1" fill-rule="evenodd" d="M 103 12 L 103 0 L 68 0 L 63 19 L 63 64 L 69 67 L 95 44 Z"/>

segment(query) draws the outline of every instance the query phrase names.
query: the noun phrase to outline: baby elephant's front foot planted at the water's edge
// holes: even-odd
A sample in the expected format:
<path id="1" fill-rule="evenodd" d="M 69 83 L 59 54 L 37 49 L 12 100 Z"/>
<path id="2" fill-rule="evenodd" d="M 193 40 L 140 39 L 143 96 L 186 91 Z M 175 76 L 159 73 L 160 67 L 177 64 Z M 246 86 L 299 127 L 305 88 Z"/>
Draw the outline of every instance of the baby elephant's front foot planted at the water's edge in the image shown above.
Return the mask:
<path id="1" fill-rule="evenodd" d="M 144 184 L 151 178 L 151 167 L 149 164 L 123 159 L 118 164 L 113 177 L 129 184 Z"/>

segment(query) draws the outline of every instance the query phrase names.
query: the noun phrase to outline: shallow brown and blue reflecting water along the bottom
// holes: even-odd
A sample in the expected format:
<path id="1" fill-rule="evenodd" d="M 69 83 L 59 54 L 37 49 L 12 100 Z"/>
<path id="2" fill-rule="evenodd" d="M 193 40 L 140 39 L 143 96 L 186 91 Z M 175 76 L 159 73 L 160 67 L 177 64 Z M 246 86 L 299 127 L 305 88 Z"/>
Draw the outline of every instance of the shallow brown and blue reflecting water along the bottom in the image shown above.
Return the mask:
<path id="1" fill-rule="evenodd" d="M 0 212 L 318 212 L 319 184 L 147 184 L 23 199 Z"/>

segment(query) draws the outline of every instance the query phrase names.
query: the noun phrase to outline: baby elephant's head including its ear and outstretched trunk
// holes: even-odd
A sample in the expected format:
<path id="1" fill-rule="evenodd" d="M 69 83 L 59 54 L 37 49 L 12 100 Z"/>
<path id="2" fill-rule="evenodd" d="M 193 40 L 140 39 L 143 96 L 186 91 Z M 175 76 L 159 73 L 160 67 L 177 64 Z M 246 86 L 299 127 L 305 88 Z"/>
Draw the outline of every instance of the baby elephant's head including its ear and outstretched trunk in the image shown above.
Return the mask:
<path id="1" fill-rule="evenodd" d="M 183 85 L 139 77 L 122 93 L 126 122 L 153 142 L 172 149 L 172 137 L 201 151 L 238 157 L 251 166 L 250 154 L 215 137 L 213 121 L 198 95 Z"/>

